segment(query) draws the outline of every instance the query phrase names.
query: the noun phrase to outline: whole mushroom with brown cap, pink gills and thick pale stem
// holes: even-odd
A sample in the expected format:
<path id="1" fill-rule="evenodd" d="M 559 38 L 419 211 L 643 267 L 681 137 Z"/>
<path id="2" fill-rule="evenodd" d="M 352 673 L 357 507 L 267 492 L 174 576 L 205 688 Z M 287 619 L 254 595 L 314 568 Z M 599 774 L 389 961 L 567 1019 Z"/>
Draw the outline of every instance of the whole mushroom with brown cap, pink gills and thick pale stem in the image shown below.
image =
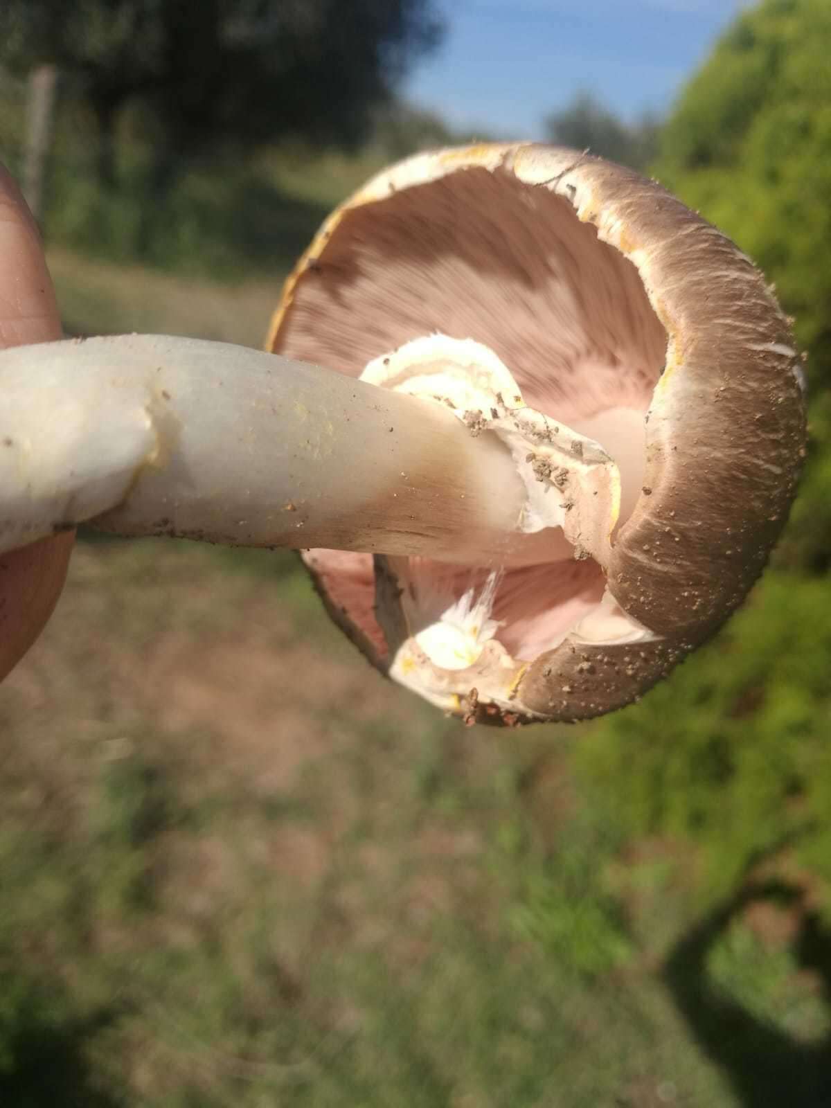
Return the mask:
<path id="1" fill-rule="evenodd" d="M 750 260 L 562 148 L 375 177 L 289 277 L 268 349 L 0 353 L 0 553 L 85 520 L 300 548 L 402 685 L 469 722 L 576 720 L 741 602 L 804 453 L 799 357 Z"/>

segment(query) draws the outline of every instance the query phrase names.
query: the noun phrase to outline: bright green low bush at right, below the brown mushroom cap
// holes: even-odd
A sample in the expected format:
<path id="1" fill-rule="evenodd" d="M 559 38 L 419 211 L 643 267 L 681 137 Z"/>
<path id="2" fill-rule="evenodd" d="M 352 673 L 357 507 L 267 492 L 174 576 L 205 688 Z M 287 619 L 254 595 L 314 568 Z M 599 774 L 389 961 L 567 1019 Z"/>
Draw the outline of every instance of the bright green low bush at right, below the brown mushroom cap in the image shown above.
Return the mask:
<path id="1" fill-rule="evenodd" d="M 827 582 L 769 571 L 710 646 L 593 728 L 578 772 L 623 833 L 695 842 L 707 899 L 792 844 L 831 920 L 830 683 Z"/>

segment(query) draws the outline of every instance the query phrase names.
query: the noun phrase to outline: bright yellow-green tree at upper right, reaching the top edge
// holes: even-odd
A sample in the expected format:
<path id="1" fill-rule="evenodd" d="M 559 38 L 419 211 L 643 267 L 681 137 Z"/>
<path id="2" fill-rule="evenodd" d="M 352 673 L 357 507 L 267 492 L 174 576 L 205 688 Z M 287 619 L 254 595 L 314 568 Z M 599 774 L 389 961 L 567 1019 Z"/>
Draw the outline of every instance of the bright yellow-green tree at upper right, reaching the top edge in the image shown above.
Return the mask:
<path id="1" fill-rule="evenodd" d="M 774 281 L 808 352 L 812 441 L 782 557 L 831 566 L 831 4 L 765 0 L 689 82 L 656 171 Z"/>

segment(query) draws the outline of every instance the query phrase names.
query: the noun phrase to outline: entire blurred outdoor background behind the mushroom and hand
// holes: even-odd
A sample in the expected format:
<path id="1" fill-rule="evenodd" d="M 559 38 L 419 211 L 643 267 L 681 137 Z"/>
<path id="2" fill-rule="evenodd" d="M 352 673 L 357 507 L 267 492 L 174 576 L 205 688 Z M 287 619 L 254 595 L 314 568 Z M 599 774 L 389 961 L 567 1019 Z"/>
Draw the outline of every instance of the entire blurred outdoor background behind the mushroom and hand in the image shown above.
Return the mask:
<path id="1" fill-rule="evenodd" d="M 831 1104 L 828 0 L 3 0 L 69 334 L 257 346 L 322 217 L 471 138 L 657 176 L 809 355 L 787 534 L 643 702 L 493 732 L 294 556 L 82 535 L 0 690 L 0 1102 Z"/>

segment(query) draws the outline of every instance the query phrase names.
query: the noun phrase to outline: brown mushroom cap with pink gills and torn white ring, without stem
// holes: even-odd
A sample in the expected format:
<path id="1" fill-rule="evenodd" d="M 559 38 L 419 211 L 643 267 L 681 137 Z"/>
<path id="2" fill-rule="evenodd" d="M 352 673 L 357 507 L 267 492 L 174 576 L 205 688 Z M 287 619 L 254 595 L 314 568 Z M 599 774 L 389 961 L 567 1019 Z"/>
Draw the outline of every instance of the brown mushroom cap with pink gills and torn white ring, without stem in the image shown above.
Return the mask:
<path id="1" fill-rule="evenodd" d="M 799 356 L 752 263 L 657 183 L 564 148 L 373 177 L 300 259 L 267 346 L 449 410 L 512 459 L 513 563 L 461 542 L 452 563 L 304 554 L 370 661 L 469 722 L 636 699 L 746 596 L 804 453 Z M 434 522 L 449 510 L 437 496 Z"/>

